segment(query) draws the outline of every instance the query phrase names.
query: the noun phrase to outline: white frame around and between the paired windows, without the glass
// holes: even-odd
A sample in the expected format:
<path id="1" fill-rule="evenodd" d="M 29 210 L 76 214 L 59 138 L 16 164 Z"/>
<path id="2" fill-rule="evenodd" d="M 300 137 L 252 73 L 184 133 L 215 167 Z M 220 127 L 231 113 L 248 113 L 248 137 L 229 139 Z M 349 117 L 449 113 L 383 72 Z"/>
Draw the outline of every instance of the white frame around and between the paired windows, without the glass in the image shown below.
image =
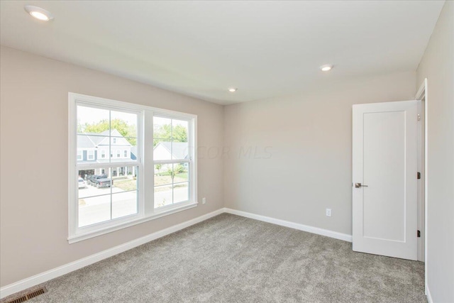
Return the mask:
<path id="1" fill-rule="evenodd" d="M 105 233 L 117 231 L 122 228 L 141 224 L 145 221 L 160 218 L 179 211 L 196 207 L 197 202 L 197 150 L 196 150 L 196 123 L 197 116 L 185 114 L 178 111 L 167 109 L 157 109 L 151 106 L 127 103 L 92 97 L 83 94 L 68 94 L 68 242 L 75 243 L 88 238 L 100 236 Z M 78 170 L 84 169 L 77 163 L 77 104 L 97 107 L 101 109 L 117 109 L 120 111 L 138 113 L 140 116 L 138 123 L 138 144 L 137 160 L 127 162 L 106 162 L 96 163 L 96 167 L 109 168 L 116 166 L 138 166 L 138 214 L 125 216 L 118 219 L 93 224 L 90 226 L 78 227 Z M 163 115 L 172 116 L 173 119 L 182 119 L 189 121 L 188 142 L 189 158 L 192 167 L 189 169 L 189 201 L 163 206 L 159 209 L 154 207 L 154 161 L 153 161 L 153 116 Z M 143 143 L 147 144 L 143 144 Z M 95 164 L 92 164 L 95 165 Z M 90 163 L 84 163 L 84 167 L 89 167 Z M 145 186 L 150 184 L 150 186 Z"/>

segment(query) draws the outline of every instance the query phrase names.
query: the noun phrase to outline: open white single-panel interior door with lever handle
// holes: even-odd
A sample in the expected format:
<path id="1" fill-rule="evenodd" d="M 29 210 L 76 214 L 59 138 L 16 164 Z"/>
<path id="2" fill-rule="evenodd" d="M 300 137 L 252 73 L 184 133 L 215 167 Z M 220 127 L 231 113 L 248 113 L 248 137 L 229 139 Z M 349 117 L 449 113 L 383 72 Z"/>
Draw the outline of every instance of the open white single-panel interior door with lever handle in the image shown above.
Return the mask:
<path id="1" fill-rule="evenodd" d="M 353 250 L 417 259 L 420 101 L 353 105 Z"/>

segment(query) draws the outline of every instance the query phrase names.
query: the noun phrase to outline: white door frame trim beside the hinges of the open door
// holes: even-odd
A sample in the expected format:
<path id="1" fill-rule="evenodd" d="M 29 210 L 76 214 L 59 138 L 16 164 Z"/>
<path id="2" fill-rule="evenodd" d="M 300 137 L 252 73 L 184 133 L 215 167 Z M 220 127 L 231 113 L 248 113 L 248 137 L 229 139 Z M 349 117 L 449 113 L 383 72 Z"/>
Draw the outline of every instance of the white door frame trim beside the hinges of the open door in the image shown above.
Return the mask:
<path id="1" fill-rule="evenodd" d="M 427 81 L 427 78 L 424 78 L 423 80 L 423 83 L 421 84 L 421 86 L 419 87 L 418 89 L 418 92 L 416 93 L 416 97 L 415 99 L 416 100 L 420 100 L 421 101 L 421 104 L 424 104 L 424 116 L 423 116 L 423 119 L 424 119 L 424 123 L 423 123 L 423 131 L 421 133 L 424 134 L 424 169 L 423 169 L 423 192 L 424 192 L 424 195 L 423 197 L 423 201 L 422 201 L 422 204 L 423 204 L 423 207 L 424 207 L 424 211 L 423 211 L 423 214 L 424 214 L 424 217 L 423 217 L 423 223 L 420 222 L 421 226 L 424 226 L 424 247 L 423 247 L 423 251 L 424 251 L 424 292 L 426 293 L 427 295 L 427 231 L 428 231 L 428 224 L 427 224 L 427 205 L 428 205 L 428 187 L 427 187 L 427 172 L 428 172 L 428 87 L 427 87 L 427 84 L 428 84 L 428 81 Z M 422 147 L 421 147 L 422 148 Z M 419 161 L 422 161 L 422 159 L 419 159 Z M 421 162 L 420 162 L 421 163 Z M 419 204 L 421 205 L 421 204 Z M 421 253 L 421 252 L 419 252 Z"/>

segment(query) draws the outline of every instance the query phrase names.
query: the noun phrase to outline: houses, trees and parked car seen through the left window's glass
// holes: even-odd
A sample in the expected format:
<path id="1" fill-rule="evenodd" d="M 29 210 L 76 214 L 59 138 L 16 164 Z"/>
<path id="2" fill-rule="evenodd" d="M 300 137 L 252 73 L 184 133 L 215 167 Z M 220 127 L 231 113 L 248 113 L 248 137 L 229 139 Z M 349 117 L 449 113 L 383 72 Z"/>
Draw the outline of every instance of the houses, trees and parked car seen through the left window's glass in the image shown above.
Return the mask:
<path id="1" fill-rule="evenodd" d="M 79 227 L 137 214 L 137 124 L 138 114 L 77 106 Z"/>

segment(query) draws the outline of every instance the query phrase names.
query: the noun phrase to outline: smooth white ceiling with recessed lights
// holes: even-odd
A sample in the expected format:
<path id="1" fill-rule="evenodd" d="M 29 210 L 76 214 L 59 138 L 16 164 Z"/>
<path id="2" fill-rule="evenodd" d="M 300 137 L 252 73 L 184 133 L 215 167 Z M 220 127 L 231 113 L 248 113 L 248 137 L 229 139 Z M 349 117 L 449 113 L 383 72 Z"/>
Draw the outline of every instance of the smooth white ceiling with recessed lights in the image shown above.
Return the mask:
<path id="1" fill-rule="evenodd" d="M 443 3 L 1 1 L 0 33 L 11 48 L 232 104 L 416 70 Z"/>

